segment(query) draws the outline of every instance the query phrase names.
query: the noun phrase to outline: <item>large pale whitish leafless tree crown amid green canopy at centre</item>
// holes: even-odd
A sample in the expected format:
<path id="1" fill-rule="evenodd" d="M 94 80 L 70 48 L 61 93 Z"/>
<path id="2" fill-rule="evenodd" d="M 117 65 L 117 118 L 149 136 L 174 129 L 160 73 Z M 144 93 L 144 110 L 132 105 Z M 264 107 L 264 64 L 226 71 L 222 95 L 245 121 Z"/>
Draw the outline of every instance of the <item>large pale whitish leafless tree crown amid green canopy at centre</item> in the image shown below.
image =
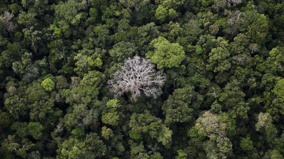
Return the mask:
<path id="1" fill-rule="evenodd" d="M 115 96 L 130 92 L 132 100 L 135 100 L 141 93 L 157 98 L 161 94 L 164 81 L 163 72 L 157 72 L 154 64 L 148 59 L 134 56 L 125 60 L 124 66 L 113 74 L 108 85 Z"/>

